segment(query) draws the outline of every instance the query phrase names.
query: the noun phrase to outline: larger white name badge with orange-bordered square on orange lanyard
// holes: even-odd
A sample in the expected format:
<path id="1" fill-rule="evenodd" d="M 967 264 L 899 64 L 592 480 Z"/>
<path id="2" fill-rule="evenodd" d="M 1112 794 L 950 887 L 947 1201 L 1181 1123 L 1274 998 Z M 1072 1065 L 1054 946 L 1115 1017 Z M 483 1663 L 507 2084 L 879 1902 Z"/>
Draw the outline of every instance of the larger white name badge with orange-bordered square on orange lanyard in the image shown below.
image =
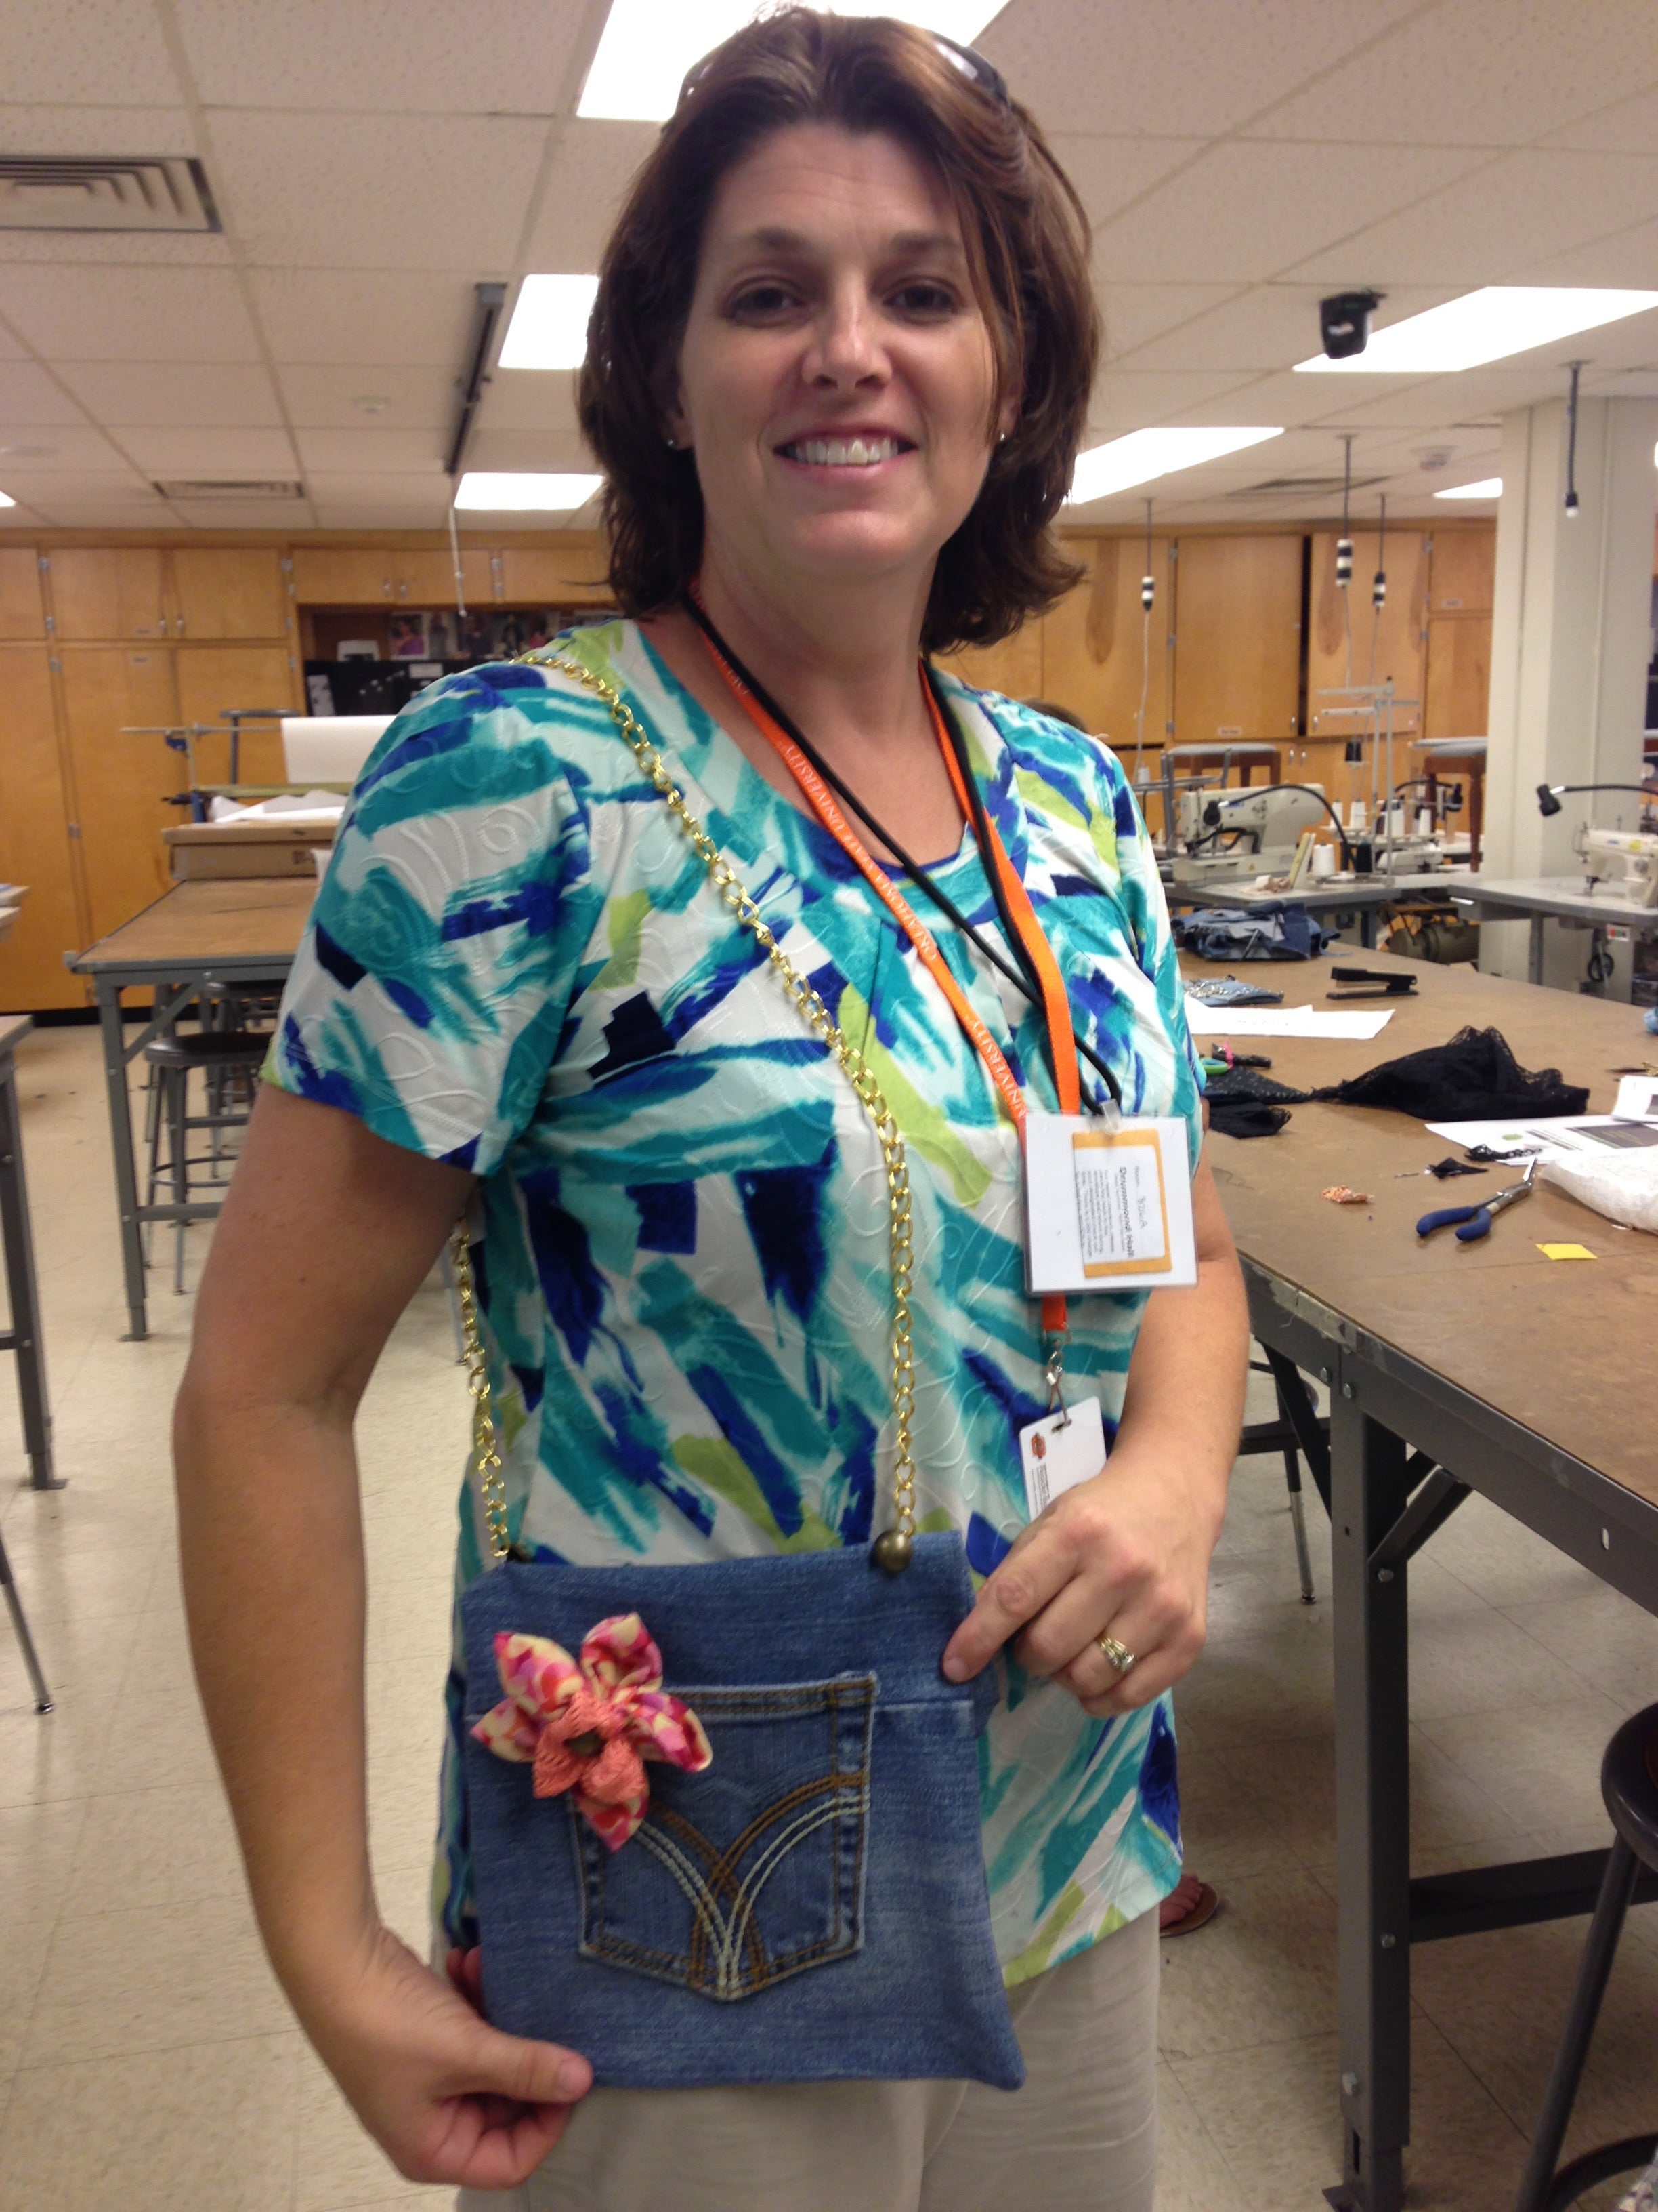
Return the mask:
<path id="1" fill-rule="evenodd" d="M 1172 1290 L 1198 1281 L 1187 1126 L 1037 1115 L 1026 1121 L 1026 1290 Z"/>

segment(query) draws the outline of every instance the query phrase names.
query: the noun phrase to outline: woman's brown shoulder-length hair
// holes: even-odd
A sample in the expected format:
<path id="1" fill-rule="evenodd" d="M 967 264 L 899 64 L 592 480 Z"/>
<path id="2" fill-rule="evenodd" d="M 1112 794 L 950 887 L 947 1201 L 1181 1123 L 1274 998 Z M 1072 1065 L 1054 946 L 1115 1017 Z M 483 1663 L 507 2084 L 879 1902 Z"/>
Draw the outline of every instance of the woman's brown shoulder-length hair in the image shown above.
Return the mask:
<path id="1" fill-rule="evenodd" d="M 993 73 L 986 73 L 993 77 Z M 610 584 L 630 615 L 672 604 L 703 553 L 692 453 L 665 442 L 663 394 L 721 177 L 772 131 L 889 131 L 944 179 L 995 352 L 993 449 L 966 522 L 940 553 L 922 646 L 984 646 L 1077 582 L 1052 520 L 1070 489 L 1099 358 L 1090 232 L 1070 179 L 999 80 L 889 15 L 789 7 L 701 62 L 610 232 L 579 380 L 581 429 L 606 471 Z M 988 427 L 988 425 L 986 425 Z"/>

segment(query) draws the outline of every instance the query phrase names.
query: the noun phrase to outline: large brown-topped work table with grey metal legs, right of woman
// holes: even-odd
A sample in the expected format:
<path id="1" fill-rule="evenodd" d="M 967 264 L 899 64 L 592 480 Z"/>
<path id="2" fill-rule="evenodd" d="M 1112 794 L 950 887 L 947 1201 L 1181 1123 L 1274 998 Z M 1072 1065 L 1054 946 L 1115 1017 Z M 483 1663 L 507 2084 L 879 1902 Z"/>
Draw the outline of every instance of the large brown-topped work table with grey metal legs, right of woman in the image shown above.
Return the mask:
<path id="1" fill-rule="evenodd" d="M 1247 1040 L 1295 1088 L 1342 1082 L 1463 1024 L 1497 1026 L 1528 1068 L 1563 1068 L 1612 1106 L 1614 1066 L 1651 1055 L 1640 1009 L 1373 956 L 1417 978 L 1373 1042 Z M 1187 975 L 1227 964 L 1183 956 Z M 1238 969 L 1231 969 L 1238 973 Z M 1324 1006 L 1326 964 L 1251 964 L 1284 1004 Z M 1388 1002 L 1377 1002 L 1384 1006 Z M 1240 1040 L 1242 1044 L 1242 1040 Z M 1410 1944 L 1587 1913 L 1605 1851 L 1410 1878 L 1410 1555 L 1479 1491 L 1603 1582 L 1658 1613 L 1658 1462 L 1647 1402 L 1658 1336 L 1658 1241 L 1539 1183 L 1481 1243 L 1417 1243 L 1437 1206 L 1519 1170 L 1446 1188 L 1399 1181 L 1444 1157 L 1402 1113 L 1291 1108 L 1276 1137 L 1211 1135 L 1207 1152 L 1242 1254 L 1251 1327 L 1284 1387 L 1333 1524 L 1340 2099 L 1351 2212 L 1397 2212 L 1410 2137 Z M 1331 1206 L 1331 1183 L 1366 1206 Z M 1552 1263 L 1539 1243 L 1583 1243 Z M 1329 1385 L 1329 1436 L 1302 1378 Z M 1647 1882 L 1640 1896 L 1658 1893 Z M 1658 2112 L 1654 2115 L 1658 2126 Z"/>

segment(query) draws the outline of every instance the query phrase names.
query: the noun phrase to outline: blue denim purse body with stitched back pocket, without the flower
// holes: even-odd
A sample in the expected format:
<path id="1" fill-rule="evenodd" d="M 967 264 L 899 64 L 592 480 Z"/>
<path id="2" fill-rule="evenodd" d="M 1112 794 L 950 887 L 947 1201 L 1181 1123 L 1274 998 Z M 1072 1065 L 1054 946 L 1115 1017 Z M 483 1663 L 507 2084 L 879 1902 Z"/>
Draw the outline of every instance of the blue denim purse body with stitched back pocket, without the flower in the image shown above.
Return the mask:
<path id="1" fill-rule="evenodd" d="M 637 1610 L 714 1747 L 703 1774 L 648 1765 L 650 1812 L 612 1854 L 469 1739 L 489 2017 L 581 2051 L 612 2088 L 1017 2088 L 979 1840 L 995 1679 L 937 1666 L 970 1604 L 957 1535 L 917 1537 L 898 1577 L 856 1548 L 473 1582 L 469 1721 L 500 1694 L 497 1630 L 575 1652 Z"/>

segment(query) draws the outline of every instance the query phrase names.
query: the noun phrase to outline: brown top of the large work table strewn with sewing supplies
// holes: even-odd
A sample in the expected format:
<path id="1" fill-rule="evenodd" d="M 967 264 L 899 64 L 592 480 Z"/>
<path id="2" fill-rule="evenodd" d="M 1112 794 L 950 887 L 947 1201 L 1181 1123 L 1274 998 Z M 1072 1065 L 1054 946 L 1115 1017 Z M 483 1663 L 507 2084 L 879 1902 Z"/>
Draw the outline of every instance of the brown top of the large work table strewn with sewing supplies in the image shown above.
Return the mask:
<path id="1" fill-rule="evenodd" d="M 1326 960 L 1180 964 L 1187 975 L 1260 980 L 1282 991 L 1287 1006 L 1324 1006 L 1331 989 Z M 1567 1082 L 1587 1084 L 1589 1113 L 1612 1108 L 1614 1066 L 1658 1057 L 1638 1006 L 1391 953 L 1364 953 L 1362 964 L 1417 975 L 1417 995 L 1395 1004 L 1379 1037 L 1238 1037 L 1238 1048 L 1271 1055 L 1280 1082 L 1311 1091 L 1444 1044 L 1463 1024 L 1497 1026 L 1521 1066 L 1559 1066 Z M 1247 1259 L 1658 1504 L 1647 1413 L 1658 1369 L 1658 1239 L 1616 1228 L 1539 1183 L 1479 1243 L 1459 1245 L 1450 1230 L 1417 1243 L 1421 1214 L 1517 1179 L 1503 1166 L 1448 1183 L 1395 1179 L 1450 1150 L 1421 1121 L 1368 1106 L 1293 1106 L 1278 1137 L 1209 1137 L 1220 1199 Z M 1320 1197 L 1329 1183 L 1366 1190 L 1371 1203 L 1331 1206 Z M 1581 1243 L 1596 1259 L 1550 1261 L 1539 1243 Z"/>

